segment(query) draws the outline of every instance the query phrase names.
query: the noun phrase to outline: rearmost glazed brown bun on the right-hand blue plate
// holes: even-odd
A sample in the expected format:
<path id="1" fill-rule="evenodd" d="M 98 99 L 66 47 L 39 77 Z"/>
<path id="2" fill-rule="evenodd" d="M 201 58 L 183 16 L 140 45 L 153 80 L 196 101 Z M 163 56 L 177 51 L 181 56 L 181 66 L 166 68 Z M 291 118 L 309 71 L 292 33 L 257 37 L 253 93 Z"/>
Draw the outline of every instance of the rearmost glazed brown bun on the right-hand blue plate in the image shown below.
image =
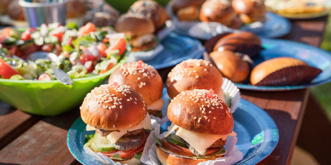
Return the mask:
<path id="1" fill-rule="evenodd" d="M 222 52 L 224 50 L 229 50 L 236 52 L 238 47 L 247 44 L 261 46 L 261 41 L 255 34 L 250 32 L 241 31 L 231 33 L 218 40 L 214 46 L 213 51 Z"/>

